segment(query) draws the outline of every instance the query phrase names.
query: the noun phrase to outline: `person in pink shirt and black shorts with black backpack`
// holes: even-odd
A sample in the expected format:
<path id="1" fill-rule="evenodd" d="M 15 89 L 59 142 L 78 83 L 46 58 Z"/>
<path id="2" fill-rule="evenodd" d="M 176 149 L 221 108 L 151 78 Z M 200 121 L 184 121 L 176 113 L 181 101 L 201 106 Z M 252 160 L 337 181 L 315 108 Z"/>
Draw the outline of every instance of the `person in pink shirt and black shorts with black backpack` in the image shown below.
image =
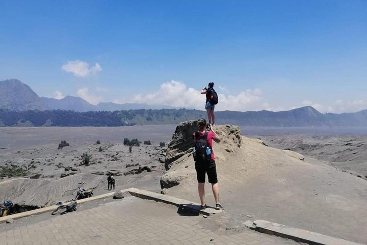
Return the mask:
<path id="1" fill-rule="evenodd" d="M 193 134 L 195 141 L 195 170 L 198 184 L 199 197 L 201 202 L 201 210 L 207 208 L 205 202 L 205 174 L 208 175 L 208 182 L 211 183 L 215 199 L 215 209 L 224 209 L 219 203 L 219 187 L 217 179 L 217 168 L 214 161 L 213 140 L 216 143 L 221 142 L 219 136 L 207 124 L 204 118 L 197 121 L 199 131 Z M 209 131 L 206 129 L 209 128 Z"/>

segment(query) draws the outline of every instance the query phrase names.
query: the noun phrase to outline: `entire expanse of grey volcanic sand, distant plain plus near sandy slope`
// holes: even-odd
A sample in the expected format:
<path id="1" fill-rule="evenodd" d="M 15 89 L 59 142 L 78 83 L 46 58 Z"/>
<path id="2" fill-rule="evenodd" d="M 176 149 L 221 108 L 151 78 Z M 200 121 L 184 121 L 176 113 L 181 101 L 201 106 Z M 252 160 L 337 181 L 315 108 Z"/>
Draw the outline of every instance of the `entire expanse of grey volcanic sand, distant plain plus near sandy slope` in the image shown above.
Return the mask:
<path id="1" fill-rule="evenodd" d="M 95 195 L 102 194 L 108 192 L 106 173 L 112 172 L 116 174 L 116 189 L 137 187 L 155 192 L 161 190 L 161 176 L 178 177 L 179 185 L 166 189 L 166 193 L 198 201 L 192 156 L 184 155 L 168 171 L 164 168 L 166 149 L 158 143 L 171 139 L 174 129 L 0 128 L 0 148 L 5 148 L 0 149 L 0 166 L 28 169 L 23 178 L 0 180 L 0 199 L 43 206 L 75 197 L 79 187 L 94 188 Z M 130 153 L 122 142 L 125 137 L 150 140 L 153 145 L 133 147 Z M 364 171 L 366 137 L 253 134 L 251 137 L 261 138 L 269 147 L 260 140 L 242 137 L 239 149 L 225 131 L 222 137 L 225 140 L 215 144 L 214 152 L 222 204 L 233 227 L 248 219 L 264 219 L 367 243 L 367 181 L 341 170 Z M 58 150 L 61 140 L 70 146 Z M 97 145 L 97 140 L 102 143 Z M 286 148 L 292 151 L 282 150 Z M 85 152 L 91 156 L 88 166 L 80 163 Z M 296 152 L 305 155 L 304 160 Z M 74 174 L 61 178 L 69 173 Z M 206 195 L 208 204 L 214 205 L 208 184 Z"/>

